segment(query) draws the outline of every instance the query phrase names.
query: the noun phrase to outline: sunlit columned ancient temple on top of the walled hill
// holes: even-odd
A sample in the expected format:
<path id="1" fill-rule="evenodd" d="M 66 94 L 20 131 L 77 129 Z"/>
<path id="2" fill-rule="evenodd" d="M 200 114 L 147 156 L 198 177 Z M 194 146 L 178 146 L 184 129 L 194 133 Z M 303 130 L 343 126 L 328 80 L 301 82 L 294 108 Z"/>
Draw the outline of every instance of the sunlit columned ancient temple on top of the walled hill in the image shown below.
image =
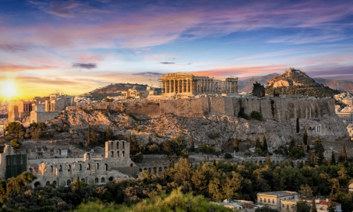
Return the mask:
<path id="1" fill-rule="evenodd" d="M 160 78 L 163 95 L 233 94 L 238 93 L 238 78 L 210 78 L 191 73 L 167 73 Z"/>

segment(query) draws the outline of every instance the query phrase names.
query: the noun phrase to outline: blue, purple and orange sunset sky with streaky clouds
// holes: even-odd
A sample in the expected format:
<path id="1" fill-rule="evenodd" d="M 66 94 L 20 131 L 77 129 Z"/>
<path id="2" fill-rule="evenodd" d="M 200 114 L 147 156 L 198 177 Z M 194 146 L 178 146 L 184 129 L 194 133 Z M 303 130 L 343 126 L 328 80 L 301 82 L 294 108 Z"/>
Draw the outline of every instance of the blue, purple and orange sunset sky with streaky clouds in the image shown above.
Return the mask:
<path id="1" fill-rule="evenodd" d="M 352 0 L 0 1 L 0 90 L 16 98 L 289 67 L 353 81 Z"/>

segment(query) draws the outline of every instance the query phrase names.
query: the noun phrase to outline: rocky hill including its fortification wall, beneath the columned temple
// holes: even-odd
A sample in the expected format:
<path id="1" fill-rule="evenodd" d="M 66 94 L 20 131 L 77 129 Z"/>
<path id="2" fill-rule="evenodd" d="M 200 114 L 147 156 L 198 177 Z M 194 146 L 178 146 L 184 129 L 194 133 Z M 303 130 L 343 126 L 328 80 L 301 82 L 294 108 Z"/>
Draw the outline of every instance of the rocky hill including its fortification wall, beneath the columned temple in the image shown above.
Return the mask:
<path id="1" fill-rule="evenodd" d="M 238 117 L 241 107 L 246 114 L 260 112 L 265 122 Z M 300 134 L 295 132 L 296 117 Z M 192 135 L 195 145 L 209 143 L 220 150 L 231 145 L 234 138 L 245 146 L 263 135 L 276 148 L 289 142 L 292 135 L 301 141 L 304 129 L 311 140 L 316 136 L 323 141 L 347 139 L 345 124 L 335 114 L 334 100 L 330 98 L 201 97 L 101 102 L 68 107 L 53 123 L 66 123 L 78 133 L 87 131 L 88 124 L 97 131 L 109 127 L 116 135 L 136 135 L 140 143 L 162 143 L 179 134 L 189 141 Z M 317 126 L 321 126 L 320 131 Z"/>

